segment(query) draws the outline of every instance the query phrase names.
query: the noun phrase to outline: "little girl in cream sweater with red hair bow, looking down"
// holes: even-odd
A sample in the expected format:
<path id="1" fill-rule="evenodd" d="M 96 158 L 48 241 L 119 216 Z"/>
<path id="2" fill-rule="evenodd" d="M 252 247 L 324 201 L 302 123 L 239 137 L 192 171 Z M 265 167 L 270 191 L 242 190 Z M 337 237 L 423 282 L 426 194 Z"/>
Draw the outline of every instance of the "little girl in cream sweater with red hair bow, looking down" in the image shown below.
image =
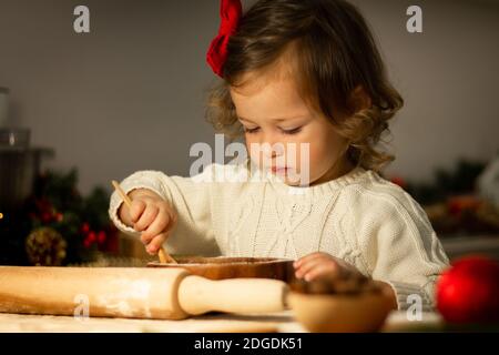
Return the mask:
<path id="1" fill-rule="evenodd" d="M 365 19 L 343 0 L 259 0 L 241 12 L 222 1 L 207 59 L 223 80 L 208 119 L 244 134 L 249 159 L 192 178 L 136 172 L 121 183 L 132 207 L 113 193 L 112 221 L 151 254 L 166 242 L 172 253 L 287 257 L 298 278 L 360 273 L 389 288 L 394 307 L 416 295 L 431 308 L 448 260 L 422 209 L 377 173 L 393 160 L 377 143 L 403 99 Z M 291 159 L 292 144 L 307 150 Z"/>

